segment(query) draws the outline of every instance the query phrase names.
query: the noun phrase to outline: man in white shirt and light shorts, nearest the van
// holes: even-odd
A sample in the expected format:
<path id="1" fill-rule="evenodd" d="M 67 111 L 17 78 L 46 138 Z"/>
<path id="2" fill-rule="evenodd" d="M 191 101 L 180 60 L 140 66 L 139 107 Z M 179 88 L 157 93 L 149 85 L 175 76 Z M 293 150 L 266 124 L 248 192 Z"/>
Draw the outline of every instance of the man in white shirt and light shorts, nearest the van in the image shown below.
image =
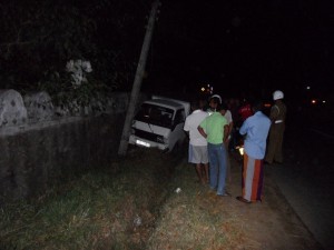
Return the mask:
<path id="1" fill-rule="evenodd" d="M 199 107 L 199 101 L 191 102 L 193 113 L 186 118 L 184 130 L 189 136 L 188 161 L 195 163 L 196 173 L 199 182 L 208 182 L 208 154 L 207 141 L 198 132 L 197 127 L 208 116 Z"/>

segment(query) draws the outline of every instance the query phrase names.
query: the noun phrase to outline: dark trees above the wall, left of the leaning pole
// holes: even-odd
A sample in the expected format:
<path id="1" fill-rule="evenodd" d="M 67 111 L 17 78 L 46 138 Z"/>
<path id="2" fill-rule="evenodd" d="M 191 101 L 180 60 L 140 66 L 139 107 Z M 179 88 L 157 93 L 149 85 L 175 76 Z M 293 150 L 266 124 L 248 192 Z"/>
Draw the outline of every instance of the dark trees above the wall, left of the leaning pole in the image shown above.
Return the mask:
<path id="1" fill-rule="evenodd" d="M 11 0 L 0 3 L 0 88 L 66 90 L 66 63 L 90 61 L 90 88 L 128 89 L 150 2 Z"/>

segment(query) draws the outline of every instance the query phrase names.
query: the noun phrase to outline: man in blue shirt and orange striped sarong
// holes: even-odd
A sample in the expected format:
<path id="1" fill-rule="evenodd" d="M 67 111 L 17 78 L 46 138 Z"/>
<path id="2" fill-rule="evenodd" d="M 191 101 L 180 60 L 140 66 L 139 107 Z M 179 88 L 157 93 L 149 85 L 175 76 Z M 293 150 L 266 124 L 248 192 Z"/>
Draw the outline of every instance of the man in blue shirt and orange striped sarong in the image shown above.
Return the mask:
<path id="1" fill-rule="evenodd" d="M 266 151 L 266 140 L 271 128 L 271 120 L 263 111 L 263 102 L 253 106 L 254 114 L 247 118 L 239 133 L 246 136 L 243 166 L 243 196 L 236 199 L 245 202 L 262 201 L 263 159 Z"/>

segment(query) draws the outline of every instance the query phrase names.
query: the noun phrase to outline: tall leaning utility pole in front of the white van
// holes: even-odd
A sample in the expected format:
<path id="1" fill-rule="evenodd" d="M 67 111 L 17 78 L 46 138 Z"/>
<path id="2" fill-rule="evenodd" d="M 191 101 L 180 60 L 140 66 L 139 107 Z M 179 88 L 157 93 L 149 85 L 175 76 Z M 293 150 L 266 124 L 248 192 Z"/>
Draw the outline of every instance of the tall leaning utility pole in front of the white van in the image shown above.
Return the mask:
<path id="1" fill-rule="evenodd" d="M 155 0 L 155 2 L 153 3 L 151 10 L 150 10 L 150 16 L 149 16 L 148 23 L 147 23 L 146 34 L 145 34 L 144 43 L 141 47 L 139 62 L 137 66 L 137 71 L 136 71 L 136 77 L 135 77 L 135 81 L 134 81 L 134 86 L 132 86 L 132 90 L 131 90 L 131 97 L 130 97 L 130 101 L 129 101 L 129 106 L 128 106 L 128 111 L 127 111 L 127 116 L 126 116 L 126 120 L 124 123 L 122 133 L 121 133 L 121 138 L 120 138 L 120 143 L 119 143 L 119 148 L 118 148 L 118 154 L 122 156 L 122 157 L 126 156 L 127 149 L 128 149 L 131 121 L 135 116 L 135 109 L 136 109 L 136 104 L 138 101 L 138 96 L 140 92 L 143 76 L 144 76 L 145 66 L 146 66 L 146 59 L 147 59 L 147 54 L 149 51 L 151 34 L 153 34 L 153 30 L 154 30 L 156 16 L 158 13 L 159 6 L 160 6 L 160 1 Z"/>

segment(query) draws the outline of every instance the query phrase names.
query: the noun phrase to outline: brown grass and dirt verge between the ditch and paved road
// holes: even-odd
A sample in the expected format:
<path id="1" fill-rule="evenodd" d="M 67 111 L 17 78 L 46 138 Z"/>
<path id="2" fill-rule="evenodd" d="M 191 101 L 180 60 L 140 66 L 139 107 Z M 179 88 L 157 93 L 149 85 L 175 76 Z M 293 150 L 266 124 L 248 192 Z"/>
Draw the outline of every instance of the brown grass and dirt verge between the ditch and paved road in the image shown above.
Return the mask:
<path id="1" fill-rule="evenodd" d="M 183 193 L 166 201 L 149 249 L 322 249 L 266 172 L 263 202 L 246 204 L 236 200 L 242 192 L 242 166 L 233 156 L 230 162 L 232 197 L 220 198 L 196 181 L 194 168 L 184 160 L 178 168 L 186 170 L 177 177 Z M 196 220 L 189 214 L 197 214 L 198 224 L 189 223 Z M 214 222 L 212 218 L 216 218 Z M 212 227 L 215 230 L 208 229 Z M 220 231 L 220 236 L 203 243 L 213 231 Z M 225 240 L 217 242 L 219 238 Z"/>

